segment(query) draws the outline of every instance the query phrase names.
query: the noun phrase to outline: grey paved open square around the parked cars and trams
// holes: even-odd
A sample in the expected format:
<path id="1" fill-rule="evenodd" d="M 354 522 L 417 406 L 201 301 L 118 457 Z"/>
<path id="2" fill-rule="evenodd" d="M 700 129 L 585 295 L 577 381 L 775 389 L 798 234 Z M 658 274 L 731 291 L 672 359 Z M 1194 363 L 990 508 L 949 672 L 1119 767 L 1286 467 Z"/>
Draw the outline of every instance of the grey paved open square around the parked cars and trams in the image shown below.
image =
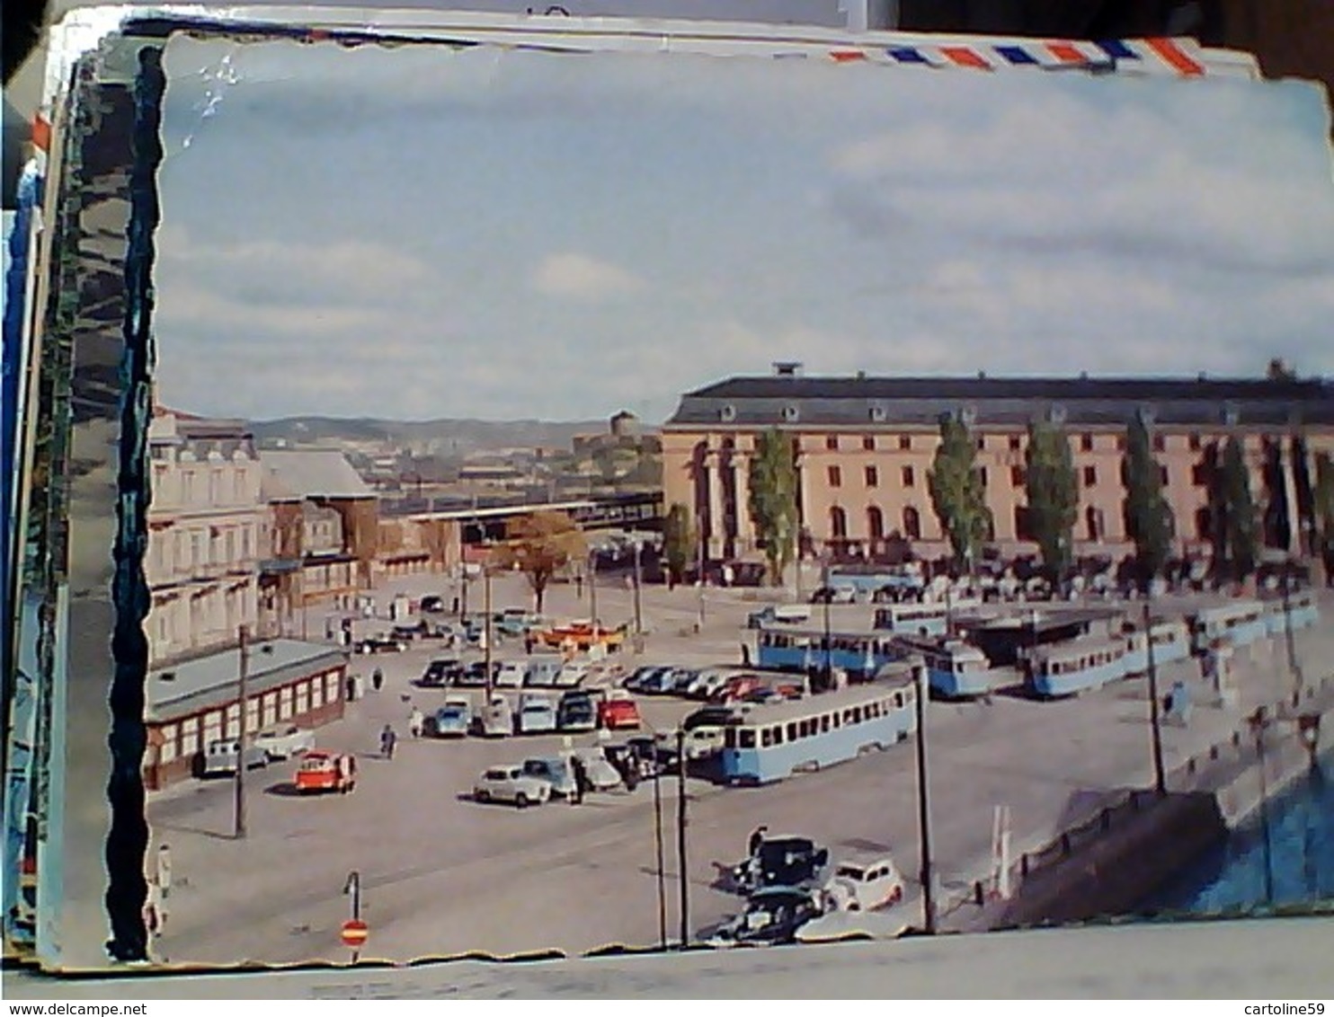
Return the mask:
<path id="1" fill-rule="evenodd" d="M 740 596 L 710 590 L 704 630 L 694 634 L 695 590 L 646 592 L 656 632 L 644 660 L 736 662 L 744 637 L 740 621 L 754 606 Z M 523 601 L 515 586 L 496 590 L 494 602 L 499 608 Z M 628 602 L 622 588 L 603 589 L 599 614 L 620 620 Z M 564 588 L 554 592 L 548 610 L 587 614 L 586 601 Z M 1323 629 L 1299 636 L 1309 673 L 1329 645 Z M 366 957 L 580 953 L 658 942 L 651 784 L 634 794 L 590 796 L 580 806 L 554 802 L 519 812 L 468 800 L 472 780 L 488 764 L 558 749 L 559 736 L 404 740 L 392 761 L 376 758 L 380 726 L 406 726 L 406 696 L 423 708 L 432 697 L 443 698 L 443 692 L 408 684 L 432 654 L 422 648 L 359 658 L 364 670 L 384 668 L 386 688 L 350 704 L 342 722 L 317 733 L 320 745 L 356 752 L 363 760 L 356 793 L 297 798 L 287 793 L 291 764 L 269 768 L 252 781 L 244 841 L 229 838 L 232 790 L 225 781 L 191 781 L 151 801 L 155 837 L 172 845 L 176 884 L 159 942 L 161 956 L 211 964 L 346 961 L 350 954 L 338 932 L 350 914 L 342 890 L 354 869 L 362 876 L 363 917 L 371 925 Z M 1277 698 L 1290 681 L 1285 662 L 1281 649 L 1261 652 L 1242 682 L 1238 708 L 1201 708 L 1189 729 L 1167 728 L 1169 765 L 1226 737 L 1251 702 Z M 1183 664 L 1161 678 L 1197 674 L 1194 664 Z M 935 856 L 947 896 L 962 897 L 971 880 L 984 874 L 995 805 L 1010 805 L 1013 848 L 1021 852 L 1097 812 L 1119 789 L 1151 782 L 1143 684 L 1122 682 L 1058 702 L 998 696 L 991 704 L 931 704 Z M 642 700 L 642 708 L 651 724 L 670 726 L 692 704 Z M 675 940 L 680 922 L 675 778 L 660 788 L 667 933 Z M 738 861 L 759 824 L 775 834 L 815 837 L 835 857 L 888 850 L 904 873 L 918 869 L 911 742 L 768 788 L 724 789 L 692 780 L 687 804 L 692 933 L 736 910 L 739 898 L 711 884 L 716 865 Z M 916 917 L 908 914 L 916 909 L 916 896 L 914 888 L 900 905 L 906 921 Z M 968 906 L 956 917 L 966 920 Z"/>

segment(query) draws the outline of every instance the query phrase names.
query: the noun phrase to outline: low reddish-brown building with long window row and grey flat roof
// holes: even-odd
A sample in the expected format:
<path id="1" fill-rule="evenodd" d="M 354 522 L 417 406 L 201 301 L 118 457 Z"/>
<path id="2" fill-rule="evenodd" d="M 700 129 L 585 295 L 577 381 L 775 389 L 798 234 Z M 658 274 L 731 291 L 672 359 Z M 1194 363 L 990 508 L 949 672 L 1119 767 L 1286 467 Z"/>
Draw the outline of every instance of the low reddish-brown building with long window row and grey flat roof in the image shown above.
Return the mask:
<path id="1" fill-rule="evenodd" d="M 240 733 L 240 650 L 231 648 L 148 676 L 144 786 L 193 773 L 209 741 Z M 327 644 L 265 640 L 248 646 L 245 730 L 280 722 L 319 728 L 343 716 L 347 654 Z"/>

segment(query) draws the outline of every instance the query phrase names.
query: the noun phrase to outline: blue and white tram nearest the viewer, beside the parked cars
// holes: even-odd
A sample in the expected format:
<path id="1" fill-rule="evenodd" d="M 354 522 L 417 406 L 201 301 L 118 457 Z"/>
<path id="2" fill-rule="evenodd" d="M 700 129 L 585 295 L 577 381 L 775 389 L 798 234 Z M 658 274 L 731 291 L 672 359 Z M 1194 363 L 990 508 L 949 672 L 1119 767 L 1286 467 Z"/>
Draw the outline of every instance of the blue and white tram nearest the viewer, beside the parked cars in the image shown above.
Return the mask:
<path id="1" fill-rule="evenodd" d="M 723 730 L 728 784 L 771 784 L 887 749 L 916 730 L 911 674 L 755 706 Z"/>

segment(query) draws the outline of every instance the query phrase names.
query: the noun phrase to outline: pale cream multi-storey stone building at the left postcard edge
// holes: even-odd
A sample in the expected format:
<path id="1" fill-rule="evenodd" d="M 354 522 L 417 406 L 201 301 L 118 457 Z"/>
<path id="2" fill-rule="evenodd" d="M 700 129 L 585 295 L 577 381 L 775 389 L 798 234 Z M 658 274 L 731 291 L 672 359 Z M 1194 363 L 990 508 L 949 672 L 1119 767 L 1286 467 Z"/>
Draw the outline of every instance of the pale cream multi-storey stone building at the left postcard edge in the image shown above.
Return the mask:
<path id="1" fill-rule="evenodd" d="M 144 573 L 149 666 L 236 642 L 259 622 L 267 516 L 255 444 L 236 420 L 156 409 L 148 428 L 152 501 Z"/>

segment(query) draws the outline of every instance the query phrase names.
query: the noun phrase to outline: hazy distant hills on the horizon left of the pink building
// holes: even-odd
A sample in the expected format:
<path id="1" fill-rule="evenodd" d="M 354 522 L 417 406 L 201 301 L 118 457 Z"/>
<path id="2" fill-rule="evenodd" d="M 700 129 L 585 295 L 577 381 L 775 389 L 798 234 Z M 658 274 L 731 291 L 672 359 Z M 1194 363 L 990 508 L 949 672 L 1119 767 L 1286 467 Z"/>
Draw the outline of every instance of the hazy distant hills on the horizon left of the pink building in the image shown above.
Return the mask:
<path id="1" fill-rule="evenodd" d="M 416 455 L 466 456 L 506 448 L 568 449 L 575 435 L 607 431 L 606 420 L 379 420 L 372 417 L 281 417 L 249 421 L 267 448 L 386 443 Z"/>

